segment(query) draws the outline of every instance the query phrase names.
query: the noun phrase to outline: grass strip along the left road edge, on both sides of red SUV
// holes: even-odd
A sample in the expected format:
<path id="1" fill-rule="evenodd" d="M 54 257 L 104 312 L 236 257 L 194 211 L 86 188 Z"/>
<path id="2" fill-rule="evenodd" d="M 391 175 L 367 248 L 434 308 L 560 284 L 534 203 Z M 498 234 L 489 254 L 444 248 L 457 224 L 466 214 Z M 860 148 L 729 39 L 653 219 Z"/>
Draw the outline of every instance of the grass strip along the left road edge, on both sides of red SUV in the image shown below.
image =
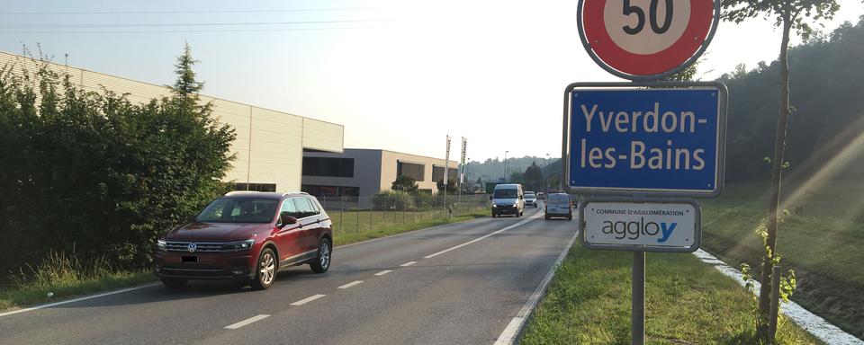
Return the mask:
<path id="1" fill-rule="evenodd" d="M 355 213 L 346 212 L 344 217 L 346 219 L 347 217 L 355 217 L 354 219 L 356 219 Z M 392 234 L 407 233 L 429 226 L 440 226 L 487 216 L 485 208 L 466 212 L 459 217 L 453 217 L 450 221 L 443 217 L 443 212 L 437 215 L 424 215 L 421 212 L 408 215 L 410 212 L 406 212 L 406 214 L 384 214 L 383 216 L 364 213 L 365 215 L 361 215 L 363 217 L 360 218 L 360 224 L 371 224 L 372 226 L 357 227 L 356 231 L 349 230 L 350 228 L 340 230 L 338 226 L 334 226 L 336 245 L 357 243 Z M 330 214 L 330 217 L 334 219 L 334 224 L 340 216 L 343 215 L 337 213 L 334 217 L 332 213 Z M 413 218 L 409 218 L 411 216 Z M 408 219 L 413 220 L 409 222 Z M 13 280 L 14 284 L 11 287 L 0 288 L 0 312 L 26 305 L 49 303 L 73 296 L 127 288 L 156 281 L 156 277 L 150 270 L 113 270 L 103 260 L 97 259 L 82 263 L 70 255 L 51 253 L 36 267 L 14 275 Z M 53 296 L 49 297 L 49 292 Z"/>

